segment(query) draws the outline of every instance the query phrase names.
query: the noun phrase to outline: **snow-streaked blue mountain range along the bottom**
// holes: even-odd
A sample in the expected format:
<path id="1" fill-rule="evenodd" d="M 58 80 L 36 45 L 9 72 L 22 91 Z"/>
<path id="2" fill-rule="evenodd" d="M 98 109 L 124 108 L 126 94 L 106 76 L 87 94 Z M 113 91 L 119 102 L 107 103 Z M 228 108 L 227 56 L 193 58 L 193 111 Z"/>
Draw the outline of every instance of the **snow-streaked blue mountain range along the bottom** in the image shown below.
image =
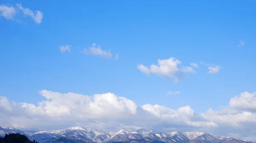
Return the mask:
<path id="1" fill-rule="evenodd" d="M 0 136 L 20 133 L 38 143 L 256 143 L 206 132 L 157 132 L 150 129 L 121 129 L 117 132 L 71 127 L 61 130 L 21 131 L 0 126 Z"/>

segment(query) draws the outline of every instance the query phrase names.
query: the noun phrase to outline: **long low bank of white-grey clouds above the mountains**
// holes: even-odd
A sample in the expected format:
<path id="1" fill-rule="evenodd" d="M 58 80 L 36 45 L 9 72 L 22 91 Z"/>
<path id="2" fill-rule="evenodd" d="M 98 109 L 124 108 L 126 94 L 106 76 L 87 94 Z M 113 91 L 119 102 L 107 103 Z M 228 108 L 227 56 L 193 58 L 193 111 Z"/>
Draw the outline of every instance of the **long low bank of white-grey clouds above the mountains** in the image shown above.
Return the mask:
<path id="1" fill-rule="evenodd" d="M 158 104 L 138 106 L 113 93 L 92 96 L 77 93 L 39 92 L 37 105 L 0 97 L 0 124 L 23 129 L 63 129 L 84 126 L 118 130 L 150 128 L 159 131 L 204 131 L 214 135 L 255 136 L 255 93 L 241 93 L 219 110 L 195 113 L 190 106 L 171 109 Z M 146 118 L 145 118 L 146 117 Z"/>

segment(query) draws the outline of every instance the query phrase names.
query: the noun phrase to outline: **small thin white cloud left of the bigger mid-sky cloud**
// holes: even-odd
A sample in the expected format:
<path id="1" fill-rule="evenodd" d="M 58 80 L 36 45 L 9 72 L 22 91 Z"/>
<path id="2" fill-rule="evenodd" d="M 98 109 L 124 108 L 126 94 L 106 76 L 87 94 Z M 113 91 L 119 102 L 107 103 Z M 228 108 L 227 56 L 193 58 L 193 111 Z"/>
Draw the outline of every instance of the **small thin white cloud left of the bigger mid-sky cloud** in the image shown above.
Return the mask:
<path id="1" fill-rule="evenodd" d="M 102 50 L 102 48 L 100 47 L 100 45 L 96 45 L 95 43 L 92 44 L 92 47 L 84 48 L 84 50 L 82 51 L 85 54 L 91 54 L 91 55 L 95 55 L 95 56 L 102 56 L 105 58 L 111 58 L 112 57 L 112 53 L 110 53 L 110 50 L 105 51 Z"/>

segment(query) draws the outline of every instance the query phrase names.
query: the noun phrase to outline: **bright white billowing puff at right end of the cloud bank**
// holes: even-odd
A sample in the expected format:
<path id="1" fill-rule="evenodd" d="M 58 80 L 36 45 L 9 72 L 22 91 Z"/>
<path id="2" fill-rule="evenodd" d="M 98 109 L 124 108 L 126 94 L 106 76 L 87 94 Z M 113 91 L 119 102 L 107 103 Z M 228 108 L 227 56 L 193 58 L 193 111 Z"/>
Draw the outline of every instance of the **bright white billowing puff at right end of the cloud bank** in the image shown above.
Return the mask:
<path id="1" fill-rule="evenodd" d="M 230 99 L 230 106 L 236 109 L 256 112 L 256 92 L 244 92 Z"/>

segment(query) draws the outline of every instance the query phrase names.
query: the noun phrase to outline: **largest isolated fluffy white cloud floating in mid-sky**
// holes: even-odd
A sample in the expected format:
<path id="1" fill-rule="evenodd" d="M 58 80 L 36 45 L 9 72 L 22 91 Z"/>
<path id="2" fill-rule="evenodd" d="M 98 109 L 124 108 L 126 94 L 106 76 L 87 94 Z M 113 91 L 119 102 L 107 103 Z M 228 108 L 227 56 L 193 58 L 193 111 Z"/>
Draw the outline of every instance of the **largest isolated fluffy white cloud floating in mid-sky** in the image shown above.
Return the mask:
<path id="1" fill-rule="evenodd" d="M 192 67 L 180 66 L 181 62 L 174 57 L 169 59 L 158 59 L 158 64 L 151 64 L 146 67 L 143 64 L 137 65 L 137 68 L 146 74 L 155 74 L 161 77 L 174 78 L 175 81 L 182 79 L 183 73 L 196 73 Z"/>

